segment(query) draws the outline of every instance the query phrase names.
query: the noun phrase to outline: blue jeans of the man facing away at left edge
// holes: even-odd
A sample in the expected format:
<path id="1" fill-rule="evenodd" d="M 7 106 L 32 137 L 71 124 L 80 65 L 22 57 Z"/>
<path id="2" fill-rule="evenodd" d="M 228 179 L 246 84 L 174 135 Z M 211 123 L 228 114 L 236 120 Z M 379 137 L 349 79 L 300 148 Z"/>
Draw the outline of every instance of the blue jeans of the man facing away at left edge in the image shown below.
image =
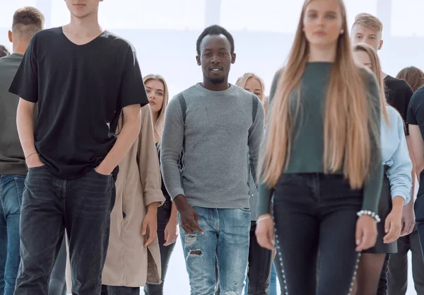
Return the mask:
<path id="1" fill-rule="evenodd" d="M 19 217 L 24 175 L 0 175 L 0 294 L 13 295 L 20 262 Z"/>

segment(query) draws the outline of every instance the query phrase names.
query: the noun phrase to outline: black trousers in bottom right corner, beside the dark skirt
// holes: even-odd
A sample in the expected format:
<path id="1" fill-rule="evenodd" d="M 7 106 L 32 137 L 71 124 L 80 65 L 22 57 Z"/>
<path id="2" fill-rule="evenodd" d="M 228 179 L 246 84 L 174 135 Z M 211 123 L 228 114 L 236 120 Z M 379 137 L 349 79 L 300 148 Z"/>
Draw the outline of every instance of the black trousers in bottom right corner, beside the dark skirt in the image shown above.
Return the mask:
<path id="1" fill-rule="evenodd" d="M 389 260 L 389 295 L 405 295 L 408 289 L 408 252 L 412 253 L 412 276 L 417 295 L 424 295 L 424 262 L 418 231 L 398 240 L 398 253 Z"/>

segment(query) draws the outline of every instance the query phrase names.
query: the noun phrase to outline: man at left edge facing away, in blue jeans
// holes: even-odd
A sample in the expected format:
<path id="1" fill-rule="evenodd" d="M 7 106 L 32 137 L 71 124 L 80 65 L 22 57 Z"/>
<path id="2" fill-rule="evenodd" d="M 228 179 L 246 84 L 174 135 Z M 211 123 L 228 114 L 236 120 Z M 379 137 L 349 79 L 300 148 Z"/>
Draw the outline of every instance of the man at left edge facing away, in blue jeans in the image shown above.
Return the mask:
<path id="1" fill-rule="evenodd" d="M 45 18 L 37 8 L 20 8 L 8 32 L 13 53 L 0 58 L 0 294 L 12 295 L 20 262 L 19 219 L 27 169 L 16 128 L 19 98 L 8 92 L 31 37 Z"/>

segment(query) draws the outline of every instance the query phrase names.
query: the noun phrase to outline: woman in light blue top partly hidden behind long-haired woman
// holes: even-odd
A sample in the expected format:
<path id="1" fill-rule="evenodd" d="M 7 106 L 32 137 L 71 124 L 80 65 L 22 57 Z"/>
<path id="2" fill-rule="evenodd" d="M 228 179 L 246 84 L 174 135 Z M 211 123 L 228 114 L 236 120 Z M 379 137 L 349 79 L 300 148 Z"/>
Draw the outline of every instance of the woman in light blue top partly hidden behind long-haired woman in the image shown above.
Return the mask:
<path id="1" fill-rule="evenodd" d="M 383 72 L 377 52 L 370 45 L 361 43 L 353 47 L 353 56 L 358 64 L 371 69 L 377 77 L 382 104 L 382 163 L 384 175 L 379 199 L 378 214 L 382 222 L 377 226 L 377 243 L 364 250 L 360 258 L 356 279 L 356 294 L 386 294 L 379 290 L 380 275 L 385 275 L 386 255 L 397 253 L 397 239 L 402 229 L 404 205 L 411 199 L 413 165 L 406 144 L 405 125 L 399 112 L 389 106 L 384 93 Z M 386 265 L 387 267 L 387 265 Z M 353 293 L 355 294 L 355 293 Z"/>

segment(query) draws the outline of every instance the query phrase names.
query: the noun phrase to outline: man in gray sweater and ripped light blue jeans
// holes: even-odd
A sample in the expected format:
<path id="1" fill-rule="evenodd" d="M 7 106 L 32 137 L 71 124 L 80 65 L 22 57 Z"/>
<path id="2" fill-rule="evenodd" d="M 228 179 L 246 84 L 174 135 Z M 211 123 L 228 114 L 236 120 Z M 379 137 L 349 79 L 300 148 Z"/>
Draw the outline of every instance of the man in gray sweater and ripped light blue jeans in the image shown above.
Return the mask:
<path id="1" fill-rule="evenodd" d="M 170 100 L 161 146 L 162 173 L 179 212 L 192 295 L 242 294 L 249 252 L 249 171 L 264 133 L 259 98 L 228 83 L 234 40 L 218 25 L 196 44 L 203 82 Z M 179 157 L 182 153 L 182 166 Z"/>

